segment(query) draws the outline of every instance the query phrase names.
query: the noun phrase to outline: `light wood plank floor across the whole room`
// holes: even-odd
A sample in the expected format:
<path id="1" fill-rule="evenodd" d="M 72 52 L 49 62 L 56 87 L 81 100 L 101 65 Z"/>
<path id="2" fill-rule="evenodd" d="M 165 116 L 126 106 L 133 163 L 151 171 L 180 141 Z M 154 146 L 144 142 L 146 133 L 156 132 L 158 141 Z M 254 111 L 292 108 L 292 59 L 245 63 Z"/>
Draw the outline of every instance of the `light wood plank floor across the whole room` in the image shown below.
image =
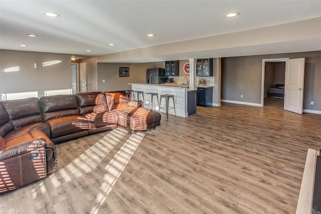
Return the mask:
<path id="1" fill-rule="evenodd" d="M 57 145 L 58 171 L 0 195 L 0 213 L 295 213 L 321 115 L 222 103 L 155 130 Z"/>

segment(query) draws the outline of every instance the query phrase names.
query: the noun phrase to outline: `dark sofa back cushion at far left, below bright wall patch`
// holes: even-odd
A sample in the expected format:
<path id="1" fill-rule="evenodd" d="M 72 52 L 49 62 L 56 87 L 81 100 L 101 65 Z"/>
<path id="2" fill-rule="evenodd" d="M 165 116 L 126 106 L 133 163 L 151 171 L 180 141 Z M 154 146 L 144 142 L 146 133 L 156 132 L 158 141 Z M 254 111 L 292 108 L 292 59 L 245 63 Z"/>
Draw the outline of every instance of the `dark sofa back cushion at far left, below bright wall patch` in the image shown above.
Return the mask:
<path id="1" fill-rule="evenodd" d="M 43 122 L 38 98 L 6 100 L 1 103 L 15 127 Z"/>

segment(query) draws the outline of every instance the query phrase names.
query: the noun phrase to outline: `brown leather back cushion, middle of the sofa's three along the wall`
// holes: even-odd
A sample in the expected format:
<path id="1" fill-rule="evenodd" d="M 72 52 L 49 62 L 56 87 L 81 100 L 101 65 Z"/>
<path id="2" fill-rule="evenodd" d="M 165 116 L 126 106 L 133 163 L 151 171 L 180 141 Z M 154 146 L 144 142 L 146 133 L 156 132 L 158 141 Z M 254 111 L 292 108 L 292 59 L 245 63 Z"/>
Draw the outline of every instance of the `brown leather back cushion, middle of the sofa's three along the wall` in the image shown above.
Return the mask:
<path id="1" fill-rule="evenodd" d="M 79 115 L 75 94 L 42 96 L 39 100 L 44 122 L 55 118 Z"/>

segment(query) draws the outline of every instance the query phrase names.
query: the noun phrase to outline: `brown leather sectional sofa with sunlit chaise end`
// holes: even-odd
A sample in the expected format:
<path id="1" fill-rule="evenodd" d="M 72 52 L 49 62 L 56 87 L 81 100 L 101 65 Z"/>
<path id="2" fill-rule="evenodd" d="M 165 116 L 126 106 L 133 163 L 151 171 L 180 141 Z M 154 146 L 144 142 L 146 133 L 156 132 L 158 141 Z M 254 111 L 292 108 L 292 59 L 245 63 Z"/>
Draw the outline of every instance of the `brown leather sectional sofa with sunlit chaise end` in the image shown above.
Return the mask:
<path id="1" fill-rule="evenodd" d="M 0 102 L 0 193 L 57 169 L 55 143 L 116 127 L 155 128 L 161 115 L 125 91 L 88 92 Z"/>

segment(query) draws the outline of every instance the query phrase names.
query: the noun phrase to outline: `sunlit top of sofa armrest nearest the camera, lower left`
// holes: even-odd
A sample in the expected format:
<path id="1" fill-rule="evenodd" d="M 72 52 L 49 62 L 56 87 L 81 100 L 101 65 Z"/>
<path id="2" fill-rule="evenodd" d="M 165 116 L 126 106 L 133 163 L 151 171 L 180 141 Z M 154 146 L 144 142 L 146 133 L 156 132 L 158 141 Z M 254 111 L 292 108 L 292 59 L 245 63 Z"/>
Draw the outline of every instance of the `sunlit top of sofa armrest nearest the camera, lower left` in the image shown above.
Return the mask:
<path id="1" fill-rule="evenodd" d="M 0 151 L 0 161 L 4 161 L 22 154 L 29 153 L 46 145 L 46 140 L 43 138 L 26 141 L 13 147 L 6 148 Z"/>

